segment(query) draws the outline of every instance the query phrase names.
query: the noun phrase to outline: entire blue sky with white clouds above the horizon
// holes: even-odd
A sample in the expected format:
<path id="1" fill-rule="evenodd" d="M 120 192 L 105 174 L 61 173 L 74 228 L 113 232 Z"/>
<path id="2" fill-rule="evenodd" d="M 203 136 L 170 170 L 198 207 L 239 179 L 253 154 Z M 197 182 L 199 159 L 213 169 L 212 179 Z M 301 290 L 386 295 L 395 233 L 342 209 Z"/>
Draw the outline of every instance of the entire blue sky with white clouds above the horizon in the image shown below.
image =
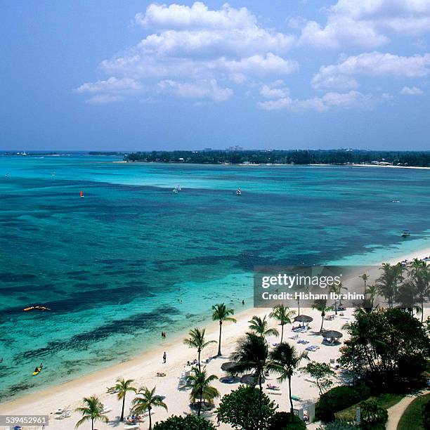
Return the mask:
<path id="1" fill-rule="evenodd" d="M 0 150 L 430 150 L 430 0 L 0 0 Z"/>

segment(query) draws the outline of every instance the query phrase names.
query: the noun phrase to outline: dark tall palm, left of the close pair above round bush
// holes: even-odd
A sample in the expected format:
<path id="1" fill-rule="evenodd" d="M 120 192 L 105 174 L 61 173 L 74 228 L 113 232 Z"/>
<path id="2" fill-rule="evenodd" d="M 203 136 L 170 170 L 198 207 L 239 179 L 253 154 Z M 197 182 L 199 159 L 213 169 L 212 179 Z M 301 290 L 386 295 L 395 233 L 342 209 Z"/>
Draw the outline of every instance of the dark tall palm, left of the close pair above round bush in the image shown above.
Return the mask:
<path id="1" fill-rule="evenodd" d="M 245 374 L 252 372 L 259 383 L 259 429 L 263 425 L 262 397 L 263 374 L 268 365 L 268 344 L 264 337 L 255 333 L 247 333 L 237 342 L 237 348 L 231 359 L 235 362 L 228 370 L 231 374 Z"/>

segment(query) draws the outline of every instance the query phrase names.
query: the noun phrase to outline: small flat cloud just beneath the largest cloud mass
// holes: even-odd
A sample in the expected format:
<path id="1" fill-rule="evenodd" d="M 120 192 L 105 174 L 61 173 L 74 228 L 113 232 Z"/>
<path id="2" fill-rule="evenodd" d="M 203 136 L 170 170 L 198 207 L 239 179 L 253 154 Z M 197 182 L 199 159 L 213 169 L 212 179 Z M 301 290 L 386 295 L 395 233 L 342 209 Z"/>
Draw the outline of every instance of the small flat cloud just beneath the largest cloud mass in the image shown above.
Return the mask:
<path id="1" fill-rule="evenodd" d="M 217 102 L 226 101 L 233 94 L 233 90 L 221 88 L 215 79 L 200 82 L 176 82 L 166 79 L 159 82 L 158 87 L 163 92 L 173 93 L 179 97 L 210 98 Z"/>

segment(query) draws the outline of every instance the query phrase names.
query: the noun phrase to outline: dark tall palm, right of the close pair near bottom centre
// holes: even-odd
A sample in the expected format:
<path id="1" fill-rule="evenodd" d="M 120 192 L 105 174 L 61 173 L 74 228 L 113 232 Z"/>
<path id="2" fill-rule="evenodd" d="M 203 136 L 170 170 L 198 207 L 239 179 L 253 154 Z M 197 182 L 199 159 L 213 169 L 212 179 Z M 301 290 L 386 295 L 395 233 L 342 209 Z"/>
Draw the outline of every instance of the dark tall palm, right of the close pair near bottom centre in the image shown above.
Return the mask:
<path id="1" fill-rule="evenodd" d="M 268 370 L 277 373 L 280 376 L 278 380 L 284 382 L 288 379 L 288 395 L 289 395 L 289 406 L 291 417 L 294 415 L 294 408 L 292 404 L 291 396 L 291 379 L 293 374 L 299 367 L 301 360 L 309 360 L 308 354 L 303 352 L 299 354 L 294 346 L 284 342 L 275 347 L 275 349 L 270 353 L 270 363 L 268 363 Z"/>

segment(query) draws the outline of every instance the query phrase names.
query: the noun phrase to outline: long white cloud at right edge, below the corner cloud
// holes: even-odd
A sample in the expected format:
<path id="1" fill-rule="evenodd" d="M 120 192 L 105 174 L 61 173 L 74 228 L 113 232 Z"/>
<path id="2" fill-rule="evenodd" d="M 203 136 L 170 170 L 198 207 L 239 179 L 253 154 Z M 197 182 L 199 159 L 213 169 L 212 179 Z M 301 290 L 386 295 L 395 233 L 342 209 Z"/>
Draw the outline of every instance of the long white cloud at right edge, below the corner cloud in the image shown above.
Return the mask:
<path id="1" fill-rule="evenodd" d="M 370 52 L 351 56 L 337 65 L 321 66 L 312 79 L 312 86 L 348 89 L 357 86 L 353 76 L 424 77 L 430 73 L 430 54 L 402 57 L 391 53 Z"/>

